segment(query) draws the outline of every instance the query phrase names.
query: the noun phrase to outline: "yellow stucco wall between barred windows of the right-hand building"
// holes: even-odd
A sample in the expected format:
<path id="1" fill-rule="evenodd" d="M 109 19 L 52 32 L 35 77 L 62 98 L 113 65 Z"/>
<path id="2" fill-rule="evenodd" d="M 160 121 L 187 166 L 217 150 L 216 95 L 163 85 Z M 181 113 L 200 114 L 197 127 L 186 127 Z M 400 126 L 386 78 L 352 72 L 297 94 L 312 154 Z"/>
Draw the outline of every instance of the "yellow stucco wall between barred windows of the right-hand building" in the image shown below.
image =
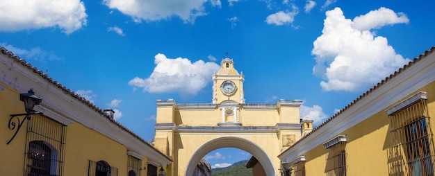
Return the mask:
<path id="1" fill-rule="evenodd" d="M 426 91 L 429 116 L 435 115 L 435 82 L 422 87 L 419 91 Z M 418 91 L 405 96 L 409 98 Z M 403 98 L 402 100 L 406 99 Z M 391 103 L 391 107 L 402 100 Z M 389 127 L 389 118 L 386 109 L 377 112 L 370 118 L 350 127 L 342 134 L 347 135 L 346 165 L 347 175 L 388 175 L 388 149 L 392 146 L 392 139 Z M 330 123 L 334 123 L 331 121 Z M 430 121 L 434 131 L 434 121 Z M 325 142 L 329 139 L 325 139 Z M 306 157 L 306 175 L 325 175 L 326 155 L 325 147 L 316 146 L 309 152 L 304 153 Z"/>

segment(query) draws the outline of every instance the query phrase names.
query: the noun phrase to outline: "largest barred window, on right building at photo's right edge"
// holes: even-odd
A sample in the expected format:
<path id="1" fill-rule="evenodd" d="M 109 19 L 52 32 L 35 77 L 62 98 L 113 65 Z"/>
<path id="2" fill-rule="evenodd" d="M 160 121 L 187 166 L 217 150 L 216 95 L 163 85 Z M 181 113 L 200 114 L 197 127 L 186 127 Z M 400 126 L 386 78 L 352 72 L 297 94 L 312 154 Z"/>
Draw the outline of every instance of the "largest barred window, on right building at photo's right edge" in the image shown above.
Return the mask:
<path id="1" fill-rule="evenodd" d="M 434 175 L 434 143 L 427 94 L 420 92 L 387 110 L 393 146 L 388 149 L 391 175 Z"/>

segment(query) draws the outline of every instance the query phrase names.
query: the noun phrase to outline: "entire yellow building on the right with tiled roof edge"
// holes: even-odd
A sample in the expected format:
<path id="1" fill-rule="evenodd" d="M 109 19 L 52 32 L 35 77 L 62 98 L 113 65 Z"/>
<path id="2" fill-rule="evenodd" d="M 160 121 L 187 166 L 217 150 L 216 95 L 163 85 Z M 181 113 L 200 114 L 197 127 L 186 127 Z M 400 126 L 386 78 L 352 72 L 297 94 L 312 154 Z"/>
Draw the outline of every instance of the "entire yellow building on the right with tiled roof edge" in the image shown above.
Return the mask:
<path id="1" fill-rule="evenodd" d="M 435 47 L 278 155 L 283 175 L 435 175 Z"/>

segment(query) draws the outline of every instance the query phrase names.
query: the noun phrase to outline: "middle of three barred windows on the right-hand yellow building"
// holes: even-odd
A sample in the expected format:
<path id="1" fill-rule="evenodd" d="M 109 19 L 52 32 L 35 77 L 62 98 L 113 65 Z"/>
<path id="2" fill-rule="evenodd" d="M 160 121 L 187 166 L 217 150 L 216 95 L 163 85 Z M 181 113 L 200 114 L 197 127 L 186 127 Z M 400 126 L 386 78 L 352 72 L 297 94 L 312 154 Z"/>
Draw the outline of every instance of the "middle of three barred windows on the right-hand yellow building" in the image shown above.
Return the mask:
<path id="1" fill-rule="evenodd" d="M 345 176 L 346 165 L 346 136 L 340 135 L 324 143 L 326 148 L 326 174 L 328 176 Z"/>

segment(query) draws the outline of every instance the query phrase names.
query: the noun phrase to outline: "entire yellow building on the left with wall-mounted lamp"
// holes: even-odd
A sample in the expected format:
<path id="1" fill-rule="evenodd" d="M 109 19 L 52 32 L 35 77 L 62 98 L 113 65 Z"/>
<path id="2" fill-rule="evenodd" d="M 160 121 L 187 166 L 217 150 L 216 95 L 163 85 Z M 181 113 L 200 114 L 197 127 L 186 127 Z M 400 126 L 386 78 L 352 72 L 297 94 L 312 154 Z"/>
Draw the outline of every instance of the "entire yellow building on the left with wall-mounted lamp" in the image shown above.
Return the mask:
<path id="1" fill-rule="evenodd" d="M 113 120 L 111 109 L 92 105 L 1 46 L 0 71 L 0 175 L 145 176 L 171 164 Z M 25 108 L 24 101 L 36 105 Z"/>

